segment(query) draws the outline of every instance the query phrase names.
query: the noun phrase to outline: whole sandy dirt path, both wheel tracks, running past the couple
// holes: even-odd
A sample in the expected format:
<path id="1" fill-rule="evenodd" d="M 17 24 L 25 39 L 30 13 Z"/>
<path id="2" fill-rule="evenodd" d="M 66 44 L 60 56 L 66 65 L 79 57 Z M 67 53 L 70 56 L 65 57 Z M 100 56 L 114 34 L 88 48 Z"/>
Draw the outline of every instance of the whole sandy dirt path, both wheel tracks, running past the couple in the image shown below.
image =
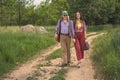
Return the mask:
<path id="1" fill-rule="evenodd" d="M 101 34 L 95 35 L 96 34 L 95 32 L 90 33 L 88 35 L 91 34 L 93 34 L 93 36 L 90 36 L 87 39 L 89 43 L 91 43 L 94 38 L 101 35 Z M 45 58 L 47 55 L 51 54 L 58 48 L 60 48 L 60 44 L 57 44 L 43 51 L 42 55 L 39 55 L 35 59 L 21 65 L 12 72 L 3 76 L 0 80 L 27 80 L 27 78 L 37 78 L 38 80 L 49 80 L 61 69 L 61 67 L 58 66 L 60 65 L 61 58 L 57 58 L 51 61 L 46 61 Z M 77 64 L 74 48 L 72 48 L 71 51 L 72 51 L 71 66 L 73 67 L 70 66 L 68 68 L 68 73 L 66 74 L 65 80 L 88 80 L 88 79 L 93 80 L 94 70 L 92 69 L 92 64 L 89 59 L 91 49 L 85 52 L 85 58 L 82 60 L 81 67 L 79 69 L 74 67 L 74 65 Z M 39 64 L 44 64 L 44 66 L 37 67 L 37 65 Z"/>

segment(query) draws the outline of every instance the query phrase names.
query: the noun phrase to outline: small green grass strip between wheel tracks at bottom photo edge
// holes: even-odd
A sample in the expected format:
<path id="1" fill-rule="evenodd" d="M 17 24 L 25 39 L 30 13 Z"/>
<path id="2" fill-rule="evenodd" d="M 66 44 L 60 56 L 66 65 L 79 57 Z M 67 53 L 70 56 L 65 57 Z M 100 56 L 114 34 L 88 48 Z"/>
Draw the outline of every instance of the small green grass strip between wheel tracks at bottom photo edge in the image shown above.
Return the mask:
<path id="1" fill-rule="evenodd" d="M 62 68 L 54 77 L 50 80 L 65 80 L 65 74 L 67 73 L 67 69 Z"/>

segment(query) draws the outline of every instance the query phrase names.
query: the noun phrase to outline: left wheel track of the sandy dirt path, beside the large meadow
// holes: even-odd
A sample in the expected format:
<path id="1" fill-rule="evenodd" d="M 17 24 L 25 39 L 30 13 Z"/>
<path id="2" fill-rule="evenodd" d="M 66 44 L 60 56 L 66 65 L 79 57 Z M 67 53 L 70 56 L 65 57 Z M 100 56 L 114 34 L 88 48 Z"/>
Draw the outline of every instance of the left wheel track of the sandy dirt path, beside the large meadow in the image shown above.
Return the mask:
<path id="1" fill-rule="evenodd" d="M 54 52 L 56 49 L 60 48 L 60 45 L 55 45 L 45 51 L 43 51 L 37 58 L 28 61 L 27 63 L 23 64 L 22 66 L 16 68 L 12 72 L 8 73 L 7 75 L 3 76 L 0 80 L 26 80 L 27 77 L 31 75 L 31 73 L 37 70 L 36 65 L 40 64 L 44 61 L 45 57 L 50 53 Z"/>

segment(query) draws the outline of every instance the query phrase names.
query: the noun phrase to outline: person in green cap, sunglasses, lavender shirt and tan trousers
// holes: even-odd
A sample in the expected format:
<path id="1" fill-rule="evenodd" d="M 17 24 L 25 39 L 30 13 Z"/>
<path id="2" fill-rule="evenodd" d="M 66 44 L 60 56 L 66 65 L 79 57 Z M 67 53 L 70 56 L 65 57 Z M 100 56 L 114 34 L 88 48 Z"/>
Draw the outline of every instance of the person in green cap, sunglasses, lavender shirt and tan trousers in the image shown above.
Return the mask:
<path id="1" fill-rule="evenodd" d="M 68 12 L 62 12 L 62 18 L 58 21 L 55 30 L 55 38 L 60 34 L 60 44 L 62 49 L 62 65 L 61 67 L 67 66 L 70 63 L 70 43 L 71 37 L 74 39 L 74 26 L 73 22 L 69 20 Z"/>

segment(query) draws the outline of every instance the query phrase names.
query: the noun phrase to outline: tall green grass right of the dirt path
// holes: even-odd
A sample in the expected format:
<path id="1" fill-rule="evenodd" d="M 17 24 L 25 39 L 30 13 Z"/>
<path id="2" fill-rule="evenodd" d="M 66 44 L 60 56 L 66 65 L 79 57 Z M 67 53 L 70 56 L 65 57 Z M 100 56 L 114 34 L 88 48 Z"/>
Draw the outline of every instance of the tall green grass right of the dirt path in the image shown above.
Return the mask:
<path id="1" fill-rule="evenodd" d="M 120 28 L 96 39 L 92 53 L 98 80 L 120 80 Z"/>

